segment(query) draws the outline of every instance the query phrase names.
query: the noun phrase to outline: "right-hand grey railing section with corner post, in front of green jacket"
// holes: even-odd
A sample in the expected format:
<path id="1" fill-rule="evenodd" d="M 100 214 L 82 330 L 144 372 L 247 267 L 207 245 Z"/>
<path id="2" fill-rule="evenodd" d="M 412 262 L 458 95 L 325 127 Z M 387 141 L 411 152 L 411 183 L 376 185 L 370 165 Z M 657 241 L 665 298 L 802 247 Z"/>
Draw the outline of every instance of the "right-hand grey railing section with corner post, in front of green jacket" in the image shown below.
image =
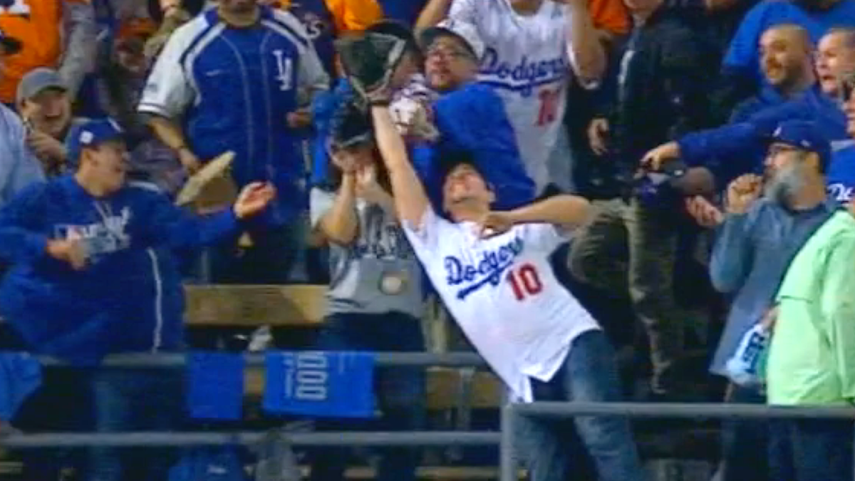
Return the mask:
<path id="1" fill-rule="evenodd" d="M 515 424 L 520 417 L 575 418 L 576 416 L 687 419 L 852 419 L 855 422 L 855 408 L 636 402 L 533 402 L 530 404 L 506 404 L 502 408 L 499 481 L 518 481 L 519 479 L 514 446 L 516 442 Z M 855 463 L 853 463 L 852 472 L 855 472 Z"/>

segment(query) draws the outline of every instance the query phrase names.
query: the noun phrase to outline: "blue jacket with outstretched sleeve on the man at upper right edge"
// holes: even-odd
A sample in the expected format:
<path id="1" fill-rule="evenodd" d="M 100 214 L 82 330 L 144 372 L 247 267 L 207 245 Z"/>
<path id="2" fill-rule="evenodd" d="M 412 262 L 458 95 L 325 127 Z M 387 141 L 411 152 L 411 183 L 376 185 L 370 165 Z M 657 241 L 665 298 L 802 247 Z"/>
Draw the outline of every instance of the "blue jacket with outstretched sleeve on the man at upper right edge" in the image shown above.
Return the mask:
<path id="1" fill-rule="evenodd" d="M 760 110 L 744 122 L 687 134 L 677 141 L 680 156 L 688 166 L 711 169 L 718 185 L 724 187 L 739 175 L 763 168 L 756 152 L 764 150 L 778 124 L 789 120 L 817 122 L 831 142 L 847 139 L 846 115 L 840 105 L 811 89 L 797 99 Z"/>

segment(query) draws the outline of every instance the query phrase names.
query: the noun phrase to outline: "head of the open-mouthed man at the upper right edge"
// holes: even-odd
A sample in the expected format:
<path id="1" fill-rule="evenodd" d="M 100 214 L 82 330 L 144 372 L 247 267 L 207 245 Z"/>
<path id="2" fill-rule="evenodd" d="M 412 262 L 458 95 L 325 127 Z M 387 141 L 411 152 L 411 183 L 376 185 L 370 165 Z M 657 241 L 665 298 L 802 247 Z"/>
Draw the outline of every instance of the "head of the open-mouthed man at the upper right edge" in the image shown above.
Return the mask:
<path id="1" fill-rule="evenodd" d="M 840 95 L 840 81 L 855 73 L 855 28 L 834 28 L 819 40 L 817 78 L 830 97 Z"/>

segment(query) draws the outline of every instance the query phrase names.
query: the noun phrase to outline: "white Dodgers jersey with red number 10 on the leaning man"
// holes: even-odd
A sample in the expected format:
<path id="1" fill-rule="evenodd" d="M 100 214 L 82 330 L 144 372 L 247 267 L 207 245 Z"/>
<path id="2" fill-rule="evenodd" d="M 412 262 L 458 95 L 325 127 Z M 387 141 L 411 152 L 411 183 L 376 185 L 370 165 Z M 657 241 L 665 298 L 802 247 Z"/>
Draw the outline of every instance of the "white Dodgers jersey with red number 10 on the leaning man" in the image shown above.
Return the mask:
<path id="1" fill-rule="evenodd" d="M 532 401 L 529 377 L 549 381 L 575 337 L 599 329 L 552 272 L 549 257 L 566 239 L 550 224 L 482 240 L 475 223 L 451 223 L 428 208 L 404 232 L 445 307 L 522 401 Z"/>

